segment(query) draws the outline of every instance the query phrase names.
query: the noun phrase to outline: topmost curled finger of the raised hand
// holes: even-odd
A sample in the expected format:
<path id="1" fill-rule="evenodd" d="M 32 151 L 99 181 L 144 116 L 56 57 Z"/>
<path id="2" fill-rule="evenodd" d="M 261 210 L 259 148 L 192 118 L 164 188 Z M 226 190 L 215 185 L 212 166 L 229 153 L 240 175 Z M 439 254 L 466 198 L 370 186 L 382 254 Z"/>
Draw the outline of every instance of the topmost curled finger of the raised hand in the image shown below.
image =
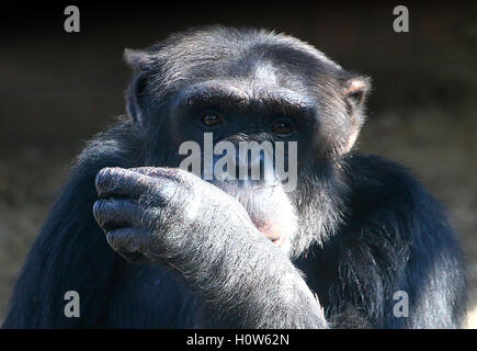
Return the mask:
<path id="1" fill-rule="evenodd" d="M 99 197 L 127 196 L 137 200 L 150 190 L 155 179 L 124 168 L 103 168 L 95 178 Z"/>

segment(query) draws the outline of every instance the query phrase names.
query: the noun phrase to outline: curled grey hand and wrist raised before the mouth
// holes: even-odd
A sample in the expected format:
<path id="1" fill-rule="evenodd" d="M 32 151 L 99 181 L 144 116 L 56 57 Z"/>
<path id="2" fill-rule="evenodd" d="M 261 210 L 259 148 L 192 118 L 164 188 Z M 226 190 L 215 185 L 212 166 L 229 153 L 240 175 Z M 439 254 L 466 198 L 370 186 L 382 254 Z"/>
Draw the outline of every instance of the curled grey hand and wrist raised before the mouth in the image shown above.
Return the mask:
<path id="1" fill-rule="evenodd" d="M 107 242 L 129 261 L 160 261 L 200 249 L 217 230 L 238 226 L 261 239 L 246 210 L 230 195 L 198 177 L 170 168 L 105 168 L 95 180 L 93 207 Z"/>

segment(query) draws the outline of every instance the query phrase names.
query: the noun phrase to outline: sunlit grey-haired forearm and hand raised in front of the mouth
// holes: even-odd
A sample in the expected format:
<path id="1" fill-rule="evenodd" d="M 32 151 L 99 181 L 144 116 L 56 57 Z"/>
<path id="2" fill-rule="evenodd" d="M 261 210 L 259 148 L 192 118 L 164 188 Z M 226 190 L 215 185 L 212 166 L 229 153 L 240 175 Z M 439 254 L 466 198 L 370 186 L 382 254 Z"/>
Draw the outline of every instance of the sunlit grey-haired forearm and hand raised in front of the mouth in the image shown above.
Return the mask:
<path id="1" fill-rule="evenodd" d="M 219 189 L 163 168 L 103 169 L 96 189 L 93 213 L 117 252 L 169 264 L 237 327 L 327 327 L 297 269 Z"/>

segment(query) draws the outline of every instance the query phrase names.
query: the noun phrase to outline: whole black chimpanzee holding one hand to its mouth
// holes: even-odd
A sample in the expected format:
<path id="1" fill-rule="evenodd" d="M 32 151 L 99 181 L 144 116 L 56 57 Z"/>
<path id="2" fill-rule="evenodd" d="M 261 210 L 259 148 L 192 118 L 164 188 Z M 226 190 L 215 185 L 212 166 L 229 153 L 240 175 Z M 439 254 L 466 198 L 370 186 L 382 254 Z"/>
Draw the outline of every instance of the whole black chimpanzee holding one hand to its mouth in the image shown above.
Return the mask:
<path id="1" fill-rule="evenodd" d="M 4 328 L 461 326 L 441 205 L 402 166 L 353 150 L 368 78 L 252 29 L 192 29 L 125 58 L 127 115 L 78 157 Z M 295 189 L 180 167 L 206 133 L 295 141 Z M 79 317 L 65 315 L 70 291 Z"/>

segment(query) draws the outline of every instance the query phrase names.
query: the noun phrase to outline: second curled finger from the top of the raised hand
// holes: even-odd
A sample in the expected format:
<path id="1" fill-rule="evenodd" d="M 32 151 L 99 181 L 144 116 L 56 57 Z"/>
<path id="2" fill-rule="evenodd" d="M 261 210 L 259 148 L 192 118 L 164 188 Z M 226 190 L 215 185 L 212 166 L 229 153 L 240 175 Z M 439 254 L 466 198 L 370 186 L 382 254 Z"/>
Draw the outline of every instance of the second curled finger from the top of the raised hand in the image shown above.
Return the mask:
<path id="1" fill-rule="evenodd" d="M 93 205 L 93 216 L 105 231 L 139 225 L 143 213 L 137 203 L 128 200 L 99 200 Z"/>

